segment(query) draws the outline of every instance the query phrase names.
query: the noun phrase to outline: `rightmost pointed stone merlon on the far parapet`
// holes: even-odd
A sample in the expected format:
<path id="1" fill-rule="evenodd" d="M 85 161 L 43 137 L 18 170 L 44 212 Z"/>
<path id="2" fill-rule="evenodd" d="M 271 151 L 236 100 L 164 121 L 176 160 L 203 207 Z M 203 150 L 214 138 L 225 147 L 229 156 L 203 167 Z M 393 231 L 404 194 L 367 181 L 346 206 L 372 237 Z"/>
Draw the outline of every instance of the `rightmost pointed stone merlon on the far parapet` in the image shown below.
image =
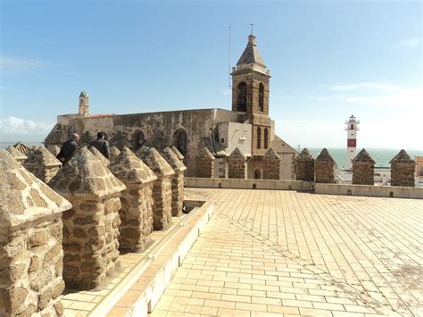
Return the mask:
<path id="1" fill-rule="evenodd" d="M 391 164 L 391 186 L 415 187 L 414 172 L 416 171 L 416 162 L 410 155 L 401 150 L 389 162 Z"/>

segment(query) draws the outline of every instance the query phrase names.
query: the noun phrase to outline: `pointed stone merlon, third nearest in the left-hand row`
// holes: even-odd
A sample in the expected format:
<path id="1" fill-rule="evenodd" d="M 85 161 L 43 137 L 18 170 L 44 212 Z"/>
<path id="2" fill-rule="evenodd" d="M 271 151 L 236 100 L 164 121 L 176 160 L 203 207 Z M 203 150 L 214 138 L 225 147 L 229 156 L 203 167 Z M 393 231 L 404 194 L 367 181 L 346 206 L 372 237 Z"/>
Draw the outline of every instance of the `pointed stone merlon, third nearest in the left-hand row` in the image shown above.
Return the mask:
<path id="1" fill-rule="evenodd" d="M 153 181 L 157 179 L 127 146 L 110 164 L 110 169 L 127 187 L 120 196 L 120 250 L 142 252 L 153 231 Z"/>

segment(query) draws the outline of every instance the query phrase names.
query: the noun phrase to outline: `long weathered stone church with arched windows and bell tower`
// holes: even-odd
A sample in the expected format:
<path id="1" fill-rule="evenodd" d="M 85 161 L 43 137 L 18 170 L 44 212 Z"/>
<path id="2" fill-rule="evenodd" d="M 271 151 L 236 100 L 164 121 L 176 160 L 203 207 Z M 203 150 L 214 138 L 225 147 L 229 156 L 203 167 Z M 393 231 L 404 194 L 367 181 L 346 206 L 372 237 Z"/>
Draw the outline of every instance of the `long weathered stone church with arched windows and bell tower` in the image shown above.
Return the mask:
<path id="1" fill-rule="evenodd" d="M 270 71 L 251 34 L 232 68 L 232 109 L 196 109 L 158 113 L 90 114 L 89 97 L 79 95 L 79 113 L 63 114 L 44 143 L 62 146 L 73 133 L 81 143 L 104 131 L 111 146 L 176 146 L 185 156 L 186 176 L 195 177 L 195 157 L 205 146 L 215 157 L 214 177 L 228 178 L 228 156 L 238 148 L 247 160 L 248 179 L 262 179 L 262 157 L 273 148 L 280 157 L 279 179 L 294 179 L 297 152 L 275 134 L 269 116 Z"/>

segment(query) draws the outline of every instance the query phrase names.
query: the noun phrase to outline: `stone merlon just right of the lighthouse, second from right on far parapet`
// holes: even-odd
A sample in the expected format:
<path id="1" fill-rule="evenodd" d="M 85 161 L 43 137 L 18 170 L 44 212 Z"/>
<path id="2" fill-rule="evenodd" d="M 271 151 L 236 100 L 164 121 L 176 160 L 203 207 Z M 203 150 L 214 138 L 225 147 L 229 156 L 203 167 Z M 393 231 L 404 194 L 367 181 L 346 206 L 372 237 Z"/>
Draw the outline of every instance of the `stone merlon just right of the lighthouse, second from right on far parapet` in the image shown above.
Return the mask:
<path id="1" fill-rule="evenodd" d="M 352 184 L 375 184 L 375 161 L 364 148 L 352 159 Z"/>

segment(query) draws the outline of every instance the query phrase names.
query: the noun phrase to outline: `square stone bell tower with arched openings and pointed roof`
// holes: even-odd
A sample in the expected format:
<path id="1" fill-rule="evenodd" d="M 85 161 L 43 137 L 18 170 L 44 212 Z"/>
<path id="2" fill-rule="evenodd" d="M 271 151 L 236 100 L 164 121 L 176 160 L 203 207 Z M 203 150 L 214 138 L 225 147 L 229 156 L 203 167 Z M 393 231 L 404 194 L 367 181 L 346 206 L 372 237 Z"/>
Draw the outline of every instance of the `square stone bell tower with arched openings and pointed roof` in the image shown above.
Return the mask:
<path id="1" fill-rule="evenodd" d="M 253 34 L 244 53 L 232 68 L 232 111 L 246 114 L 253 125 L 252 154 L 264 155 L 270 146 L 270 71 L 257 49 Z"/>

